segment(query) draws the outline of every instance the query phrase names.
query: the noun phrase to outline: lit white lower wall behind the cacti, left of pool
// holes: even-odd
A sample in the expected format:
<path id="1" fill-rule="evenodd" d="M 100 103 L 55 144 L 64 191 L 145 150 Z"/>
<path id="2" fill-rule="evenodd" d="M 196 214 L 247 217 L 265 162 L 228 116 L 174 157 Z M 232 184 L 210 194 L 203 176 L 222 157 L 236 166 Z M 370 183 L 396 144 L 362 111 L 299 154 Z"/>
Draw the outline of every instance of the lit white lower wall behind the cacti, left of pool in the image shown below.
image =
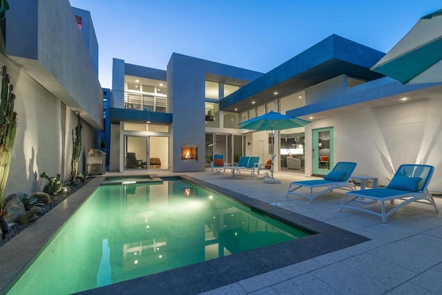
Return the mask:
<path id="1" fill-rule="evenodd" d="M 39 175 L 62 175 L 68 180 L 72 152 L 72 130 L 77 116 L 59 99 L 35 82 L 29 75 L 0 55 L 0 65 L 8 67 L 10 82 L 14 85 L 17 134 L 5 196 L 11 193 L 41 191 L 47 180 Z M 92 146 L 95 130 L 86 122 L 82 129 L 83 156 L 79 172 L 84 172 L 84 153 Z"/>

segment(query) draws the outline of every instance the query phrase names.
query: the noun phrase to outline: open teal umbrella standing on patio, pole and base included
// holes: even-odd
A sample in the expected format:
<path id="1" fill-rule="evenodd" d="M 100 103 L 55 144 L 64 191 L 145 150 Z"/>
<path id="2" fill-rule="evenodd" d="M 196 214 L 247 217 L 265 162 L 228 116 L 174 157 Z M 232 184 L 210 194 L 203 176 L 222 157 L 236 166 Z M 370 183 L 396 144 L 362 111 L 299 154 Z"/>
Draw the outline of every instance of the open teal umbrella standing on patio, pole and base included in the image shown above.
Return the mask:
<path id="1" fill-rule="evenodd" d="M 253 119 L 241 122 L 238 124 L 240 129 L 252 129 L 256 131 L 271 131 L 273 130 L 284 130 L 297 127 L 303 127 L 309 124 L 309 121 L 289 117 L 287 115 L 282 115 L 281 113 L 276 113 L 270 111 L 264 115 L 254 117 Z M 272 137 L 273 141 L 273 137 Z M 274 142 L 272 142 L 274 144 Z M 273 160 L 273 150 L 271 151 L 271 159 Z M 274 163 L 273 163 L 274 164 Z M 265 180 L 267 183 L 280 183 L 279 180 L 273 178 L 273 165 L 271 166 L 271 178 Z"/>

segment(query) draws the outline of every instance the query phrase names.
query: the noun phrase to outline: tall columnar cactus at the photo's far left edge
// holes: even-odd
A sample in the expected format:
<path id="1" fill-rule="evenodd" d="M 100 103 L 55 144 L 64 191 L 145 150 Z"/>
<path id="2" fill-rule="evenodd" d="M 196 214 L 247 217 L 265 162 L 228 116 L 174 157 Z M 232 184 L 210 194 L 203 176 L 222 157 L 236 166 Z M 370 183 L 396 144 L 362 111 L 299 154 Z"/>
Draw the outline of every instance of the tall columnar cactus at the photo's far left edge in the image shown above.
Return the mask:
<path id="1" fill-rule="evenodd" d="M 14 111 L 15 95 L 12 93 L 13 86 L 9 84 L 8 69 L 1 69 L 1 103 L 0 103 L 0 228 L 3 236 L 7 230 L 4 228 L 3 209 L 5 199 L 6 181 L 8 180 L 11 162 L 12 147 L 14 146 L 15 133 L 17 131 L 17 113 Z"/>

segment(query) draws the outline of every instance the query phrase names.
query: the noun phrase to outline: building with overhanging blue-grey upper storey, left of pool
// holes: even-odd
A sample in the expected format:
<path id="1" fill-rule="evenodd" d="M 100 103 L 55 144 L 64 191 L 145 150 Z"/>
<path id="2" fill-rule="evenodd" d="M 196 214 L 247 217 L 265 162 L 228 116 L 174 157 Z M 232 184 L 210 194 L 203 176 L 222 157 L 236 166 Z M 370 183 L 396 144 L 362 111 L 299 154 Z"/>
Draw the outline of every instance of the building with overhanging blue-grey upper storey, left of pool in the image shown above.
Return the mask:
<path id="1" fill-rule="evenodd" d="M 9 2 L 0 24 L 0 64 L 14 85 L 18 127 L 6 196 L 41 190 L 44 171 L 67 180 L 78 113 L 83 154 L 99 146 L 103 126 L 98 45 L 89 12 L 71 8 L 68 0 Z M 79 172 L 85 170 L 83 156 Z"/>

